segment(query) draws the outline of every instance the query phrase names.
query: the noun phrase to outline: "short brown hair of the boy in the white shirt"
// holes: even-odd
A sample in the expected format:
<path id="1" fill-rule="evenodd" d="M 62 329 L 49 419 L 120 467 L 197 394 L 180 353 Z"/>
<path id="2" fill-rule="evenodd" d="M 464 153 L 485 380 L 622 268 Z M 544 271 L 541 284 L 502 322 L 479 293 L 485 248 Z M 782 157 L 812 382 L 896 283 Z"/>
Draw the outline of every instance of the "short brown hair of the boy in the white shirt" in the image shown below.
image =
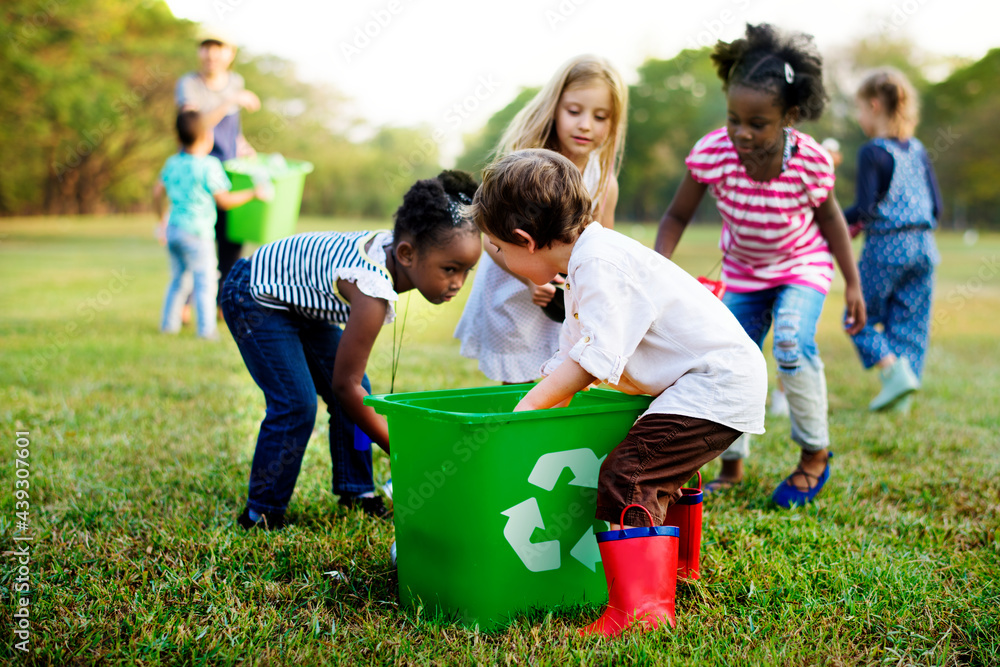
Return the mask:
<path id="1" fill-rule="evenodd" d="M 468 214 L 484 234 L 523 246 L 524 238 L 514 233 L 522 229 L 539 248 L 572 243 L 593 220 L 580 170 L 541 148 L 515 151 L 487 166 Z"/>

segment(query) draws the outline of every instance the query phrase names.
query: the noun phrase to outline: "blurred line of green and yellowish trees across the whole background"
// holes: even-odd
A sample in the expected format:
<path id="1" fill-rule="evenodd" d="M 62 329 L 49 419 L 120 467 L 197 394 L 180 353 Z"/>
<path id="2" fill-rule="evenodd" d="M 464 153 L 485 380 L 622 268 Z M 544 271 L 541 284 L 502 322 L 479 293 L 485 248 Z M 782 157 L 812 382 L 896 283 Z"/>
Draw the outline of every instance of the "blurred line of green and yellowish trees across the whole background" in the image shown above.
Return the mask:
<path id="1" fill-rule="evenodd" d="M 0 22 L 0 215 L 147 209 L 156 175 L 176 150 L 173 88 L 197 68 L 197 26 L 153 0 L 5 0 Z M 639 67 L 619 219 L 658 220 L 694 142 L 724 123 L 708 53 L 685 50 Z M 1000 133 L 992 125 L 1000 112 L 1000 49 L 964 62 L 881 35 L 824 55 L 830 104 L 801 129 L 840 141 L 842 205 L 853 199 L 864 141 L 853 118 L 854 89 L 866 69 L 891 64 L 921 93 L 917 136 L 941 182 L 942 226 L 1000 228 Z M 338 91 L 300 81 L 281 58 L 241 52 L 236 68 L 263 102 L 261 111 L 243 114 L 250 143 L 315 165 L 303 212 L 385 219 L 413 180 L 439 171 L 432 128 L 370 128 L 347 115 Z M 456 167 L 478 171 L 536 90 L 522 90 L 468 135 Z M 715 216 L 705 202 L 699 218 Z"/>

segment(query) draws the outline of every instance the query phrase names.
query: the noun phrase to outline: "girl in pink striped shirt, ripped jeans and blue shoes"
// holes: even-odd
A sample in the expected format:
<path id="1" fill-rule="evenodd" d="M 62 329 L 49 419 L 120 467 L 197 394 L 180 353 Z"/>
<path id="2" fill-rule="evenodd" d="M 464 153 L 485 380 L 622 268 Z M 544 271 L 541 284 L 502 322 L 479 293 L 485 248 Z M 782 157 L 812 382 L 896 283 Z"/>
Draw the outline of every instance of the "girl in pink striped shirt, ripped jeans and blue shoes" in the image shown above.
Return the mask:
<path id="1" fill-rule="evenodd" d="M 723 301 L 763 346 L 774 325 L 774 358 L 788 397 L 795 471 L 772 494 L 782 507 L 811 501 L 830 475 L 826 379 L 816 323 L 833 279 L 844 276 L 848 333 L 861 330 L 865 305 L 850 237 L 833 195 L 829 154 L 793 125 L 819 118 L 826 101 L 822 58 L 812 37 L 747 25 L 746 37 L 712 54 L 726 92 L 724 128 L 702 137 L 688 173 L 660 222 L 656 249 L 670 257 L 706 190 L 722 216 Z M 744 434 L 722 455 L 708 488 L 743 479 Z"/>

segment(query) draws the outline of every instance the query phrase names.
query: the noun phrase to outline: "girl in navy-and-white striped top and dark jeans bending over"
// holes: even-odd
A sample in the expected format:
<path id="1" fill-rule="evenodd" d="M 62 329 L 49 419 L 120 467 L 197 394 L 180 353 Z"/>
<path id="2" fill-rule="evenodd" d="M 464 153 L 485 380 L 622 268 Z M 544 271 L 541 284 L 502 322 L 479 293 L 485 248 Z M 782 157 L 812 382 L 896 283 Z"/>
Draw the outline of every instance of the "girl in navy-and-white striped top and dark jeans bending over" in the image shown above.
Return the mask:
<path id="1" fill-rule="evenodd" d="M 387 516 L 371 449 L 354 446 L 357 425 L 389 451 L 385 419 L 362 402 L 371 390 L 366 367 L 399 294 L 416 289 L 434 304 L 458 294 L 482 248 L 462 214 L 475 192 L 471 176 L 444 171 L 410 188 L 391 232 L 297 234 L 233 267 L 222 312 L 267 401 L 240 526 L 284 526 L 317 395 L 330 414 L 333 492 L 342 505 Z"/>

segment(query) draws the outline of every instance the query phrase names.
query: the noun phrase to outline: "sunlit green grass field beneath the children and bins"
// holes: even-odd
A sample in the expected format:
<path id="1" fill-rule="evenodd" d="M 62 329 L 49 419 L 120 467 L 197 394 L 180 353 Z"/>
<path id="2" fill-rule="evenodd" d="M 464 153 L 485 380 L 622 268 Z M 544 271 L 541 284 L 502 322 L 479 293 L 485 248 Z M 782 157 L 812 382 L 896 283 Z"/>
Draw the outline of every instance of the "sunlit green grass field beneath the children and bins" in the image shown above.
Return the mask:
<path id="1" fill-rule="evenodd" d="M 768 505 L 797 459 L 787 421 L 770 420 L 746 483 L 706 503 L 703 579 L 679 587 L 677 629 L 602 641 L 567 638 L 596 608 L 534 611 L 492 634 L 401 609 L 391 525 L 345 513 L 329 491 L 322 410 L 294 525 L 234 527 L 263 398 L 228 335 L 157 333 L 167 261 L 152 226 L 0 219 L 0 661 L 1000 663 L 1000 235 L 939 236 L 926 386 L 905 418 L 865 410 L 878 382 L 840 332 L 835 286 L 819 334 L 837 453 L 827 489 L 806 509 Z M 620 229 L 651 241 L 649 227 Z M 689 230 L 678 263 L 709 269 L 717 234 Z M 397 391 L 488 384 L 451 338 L 467 291 L 441 307 L 413 298 Z M 391 340 L 370 369 L 376 392 L 389 389 Z M 30 442 L 30 543 L 13 540 L 17 432 Z M 8 631 L 25 544 L 27 654 Z"/>

